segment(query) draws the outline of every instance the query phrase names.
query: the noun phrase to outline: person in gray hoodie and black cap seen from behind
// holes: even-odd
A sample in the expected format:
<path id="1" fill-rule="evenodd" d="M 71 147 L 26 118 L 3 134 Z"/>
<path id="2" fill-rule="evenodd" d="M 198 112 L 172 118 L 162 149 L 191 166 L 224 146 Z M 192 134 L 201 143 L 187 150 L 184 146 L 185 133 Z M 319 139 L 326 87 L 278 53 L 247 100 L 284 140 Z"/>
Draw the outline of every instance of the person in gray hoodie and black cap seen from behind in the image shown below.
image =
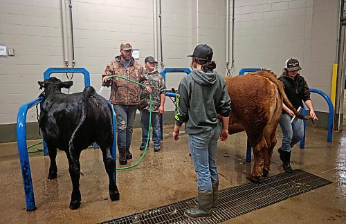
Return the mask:
<path id="1" fill-rule="evenodd" d="M 224 78 L 214 69 L 212 48 L 199 44 L 194 48 L 190 75 L 179 84 L 176 95 L 175 125 L 172 133 L 179 140 L 179 129 L 185 122 L 189 149 L 197 173 L 197 206 L 185 209 L 190 218 L 211 218 L 217 207 L 219 176 L 216 167 L 217 140 L 228 138 L 230 97 Z"/>

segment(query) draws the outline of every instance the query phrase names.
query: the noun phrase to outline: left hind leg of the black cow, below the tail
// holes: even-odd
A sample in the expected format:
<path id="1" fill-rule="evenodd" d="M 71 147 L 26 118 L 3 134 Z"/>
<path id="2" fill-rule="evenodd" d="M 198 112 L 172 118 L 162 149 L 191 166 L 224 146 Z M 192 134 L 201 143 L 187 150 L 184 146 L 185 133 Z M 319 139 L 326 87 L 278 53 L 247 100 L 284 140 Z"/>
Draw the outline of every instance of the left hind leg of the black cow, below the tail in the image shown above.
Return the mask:
<path id="1" fill-rule="evenodd" d="M 78 209 L 82 200 L 80 196 L 80 151 L 73 155 L 73 159 L 75 160 L 74 162 L 71 161 L 69 154 L 66 154 L 69 160 L 69 172 L 72 180 L 70 209 Z M 75 167 L 73 166 L 73 163 Z"/>

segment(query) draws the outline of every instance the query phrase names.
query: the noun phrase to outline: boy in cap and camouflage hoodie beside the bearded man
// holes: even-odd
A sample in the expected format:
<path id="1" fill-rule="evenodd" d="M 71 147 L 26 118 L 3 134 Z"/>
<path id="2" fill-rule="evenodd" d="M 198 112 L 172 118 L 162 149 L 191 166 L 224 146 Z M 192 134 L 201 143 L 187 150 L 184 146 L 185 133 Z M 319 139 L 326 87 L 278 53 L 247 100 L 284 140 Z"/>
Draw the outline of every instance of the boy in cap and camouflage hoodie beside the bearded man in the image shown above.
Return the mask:
<path id="1" fill-rule="evenodd" d="M 145 62 L 145 77 L 152 87 L 152 141 L 154 142 L 154 151 L 161 150 L 161 118 L 165 111 L 165 81 L 156 70 L 157 62 L 154 57 L 148 56 Z M 147 144 L 147 138 L 150 138 L 149 129 L 149 94 L 143 91 L 140 95 L 142 100 L 138 106 L 140 111 L 140 124 L 142 126 L 142 144 L 139 149 L 144 150 Z"/>

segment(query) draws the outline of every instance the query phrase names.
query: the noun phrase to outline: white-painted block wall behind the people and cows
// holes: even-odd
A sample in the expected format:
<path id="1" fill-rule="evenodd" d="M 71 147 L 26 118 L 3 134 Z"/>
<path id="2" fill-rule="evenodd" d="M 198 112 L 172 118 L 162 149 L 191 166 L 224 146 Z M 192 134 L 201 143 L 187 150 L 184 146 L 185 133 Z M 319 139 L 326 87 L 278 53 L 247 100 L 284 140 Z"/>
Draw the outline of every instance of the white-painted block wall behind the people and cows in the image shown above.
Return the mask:
<path id="1" fill-rule="evenodd" d="M 100 74 L 119 54 L 122 41 L 131 41 L 140 50 L 141 64 L 144 57 L 154 55 L 152 0 L 72 3 L 76 66 L 90 71 L 95 88 L 100 88 Z M 197 44 L 208 44 L 215 52 L 217 71 L 225 75 L 226 0 L 174 0 L 162 4 L 165 67 L 190 67 L 186 55 Z M 232 4 L 230 1 L 231 14 Z M 331 65 L 336 59 L 338 7 L 338 0 L 235 1 L 236 73 L 242 67 L 258 67 L 279 75 L 288 57 L 298 57 L 302 75 L 311 88 L 329 95 Z M 0 0 L 0 44 L 15 49 L 15 57 L 0 57 L 0 124 L 14 123 L 19 106 L 37 97 L 37 81 L 42 80 L 46 68 L 64 66 L 61 14 L 60 1 Z M 66 18 L 71 64 L 67 0 Z M 231 22 L 230 17 L 230 29 Z M 160 55 L 158 52 L 158 62 Z M 66 80 L 64 74 L 57 76 Z M 170 80 L 170 86 L 179 85 L 181 76 L 176 77 Z M 75 75 L 73 80 L 71 91 L 81 91 L 82 77 Z M 102 95 L 109 97 L 109 89 Z M 325 111 L 321 100 L 314 104 L 317 111 Z M 166 109 L 173 110 L 174 106 L 169 104 Z M 30 112 L 28 120 L 35 121 L 35 113 Z"/>

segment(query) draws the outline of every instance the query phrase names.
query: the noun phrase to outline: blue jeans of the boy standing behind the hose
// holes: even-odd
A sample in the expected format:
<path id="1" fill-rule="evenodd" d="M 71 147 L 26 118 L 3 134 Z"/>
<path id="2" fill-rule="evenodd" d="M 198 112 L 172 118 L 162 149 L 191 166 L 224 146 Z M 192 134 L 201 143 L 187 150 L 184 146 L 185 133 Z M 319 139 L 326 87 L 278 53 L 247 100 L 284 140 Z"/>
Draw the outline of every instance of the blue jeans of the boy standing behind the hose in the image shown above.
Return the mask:
<path id="1" fill-rule="evenodd" d="M 154 147 L 161 145 L 161 114 L 152 113 L 152 141 Z M 140 124 L 142 126 L 142 143 L 147 143 L 147 138 L 150 140 L 149 131 L 149 111 L 140 110 Z"/>

